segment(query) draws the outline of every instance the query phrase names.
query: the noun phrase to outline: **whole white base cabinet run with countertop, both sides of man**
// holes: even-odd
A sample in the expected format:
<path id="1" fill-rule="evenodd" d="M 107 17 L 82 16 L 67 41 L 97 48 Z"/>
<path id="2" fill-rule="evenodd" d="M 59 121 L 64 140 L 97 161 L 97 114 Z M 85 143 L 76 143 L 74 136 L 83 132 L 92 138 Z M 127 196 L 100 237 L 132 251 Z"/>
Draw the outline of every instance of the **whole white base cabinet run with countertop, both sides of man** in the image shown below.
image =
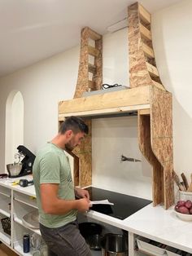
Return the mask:
<path id="1" fill-rule="evenodd" d="M 26 176 L 24 179 L 30 178 Z M 28 254 L 23 253 L 22 238 L 26 233 L 31 235 L 36 233 L 37 236 L 41 236 L 41 233 L 38 229 L 25 227 L 22 217 L 32 210 L 37 210 L 34 186 L 27 188 L 21 188 L 19 185 L 11 186 L 11 180 L 0 180 L 0 217 L 11 217 L 11 236 L 3 232 L 1 227 L 0 240 L 19 255 L 33 255 L 33 249 Z M 85 217 L 103 225 L 128 231 L 129 256 L 146 255 L 146 252 L 142 254 L 141 251 L 135 250 L 138 236 L 192 254 L 192 222 L 184 222 L 177 218 L 172 208 L 164 210 L 162 205 L 153 207 L 150 204 L 124 220 L 94 210 L 90 210 Z M 99 256 L 101 252 L 93 251 L 93 255 Z"/>

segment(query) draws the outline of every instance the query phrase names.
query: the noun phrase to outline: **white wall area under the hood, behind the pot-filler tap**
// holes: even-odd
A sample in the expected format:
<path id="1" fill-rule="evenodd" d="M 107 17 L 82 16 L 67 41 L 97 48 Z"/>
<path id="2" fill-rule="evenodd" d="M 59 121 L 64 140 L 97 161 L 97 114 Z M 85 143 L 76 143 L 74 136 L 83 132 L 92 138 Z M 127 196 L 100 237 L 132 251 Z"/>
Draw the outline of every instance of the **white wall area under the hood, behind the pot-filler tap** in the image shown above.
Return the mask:
<path id="1" fill-rule="evenodd" d="M 94 186 L 151 199 L 151 166 L 138 148 L 137 117 L 101 118 L 92 123 Z M 141 162 L 120 161 L 121 155 Z"/>

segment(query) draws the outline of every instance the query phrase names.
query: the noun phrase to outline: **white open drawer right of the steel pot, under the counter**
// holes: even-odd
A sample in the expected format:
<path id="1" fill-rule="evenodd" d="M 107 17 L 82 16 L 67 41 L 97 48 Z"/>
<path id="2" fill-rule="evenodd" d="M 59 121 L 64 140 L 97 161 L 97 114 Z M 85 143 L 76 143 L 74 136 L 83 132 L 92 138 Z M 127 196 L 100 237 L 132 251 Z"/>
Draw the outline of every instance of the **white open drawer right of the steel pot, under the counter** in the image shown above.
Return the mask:
<path id="1" fill-rule="evenodd" d="M 155 245 L 152 245 L 151 242 L 153 242 Z M 150 239 L 147 239 L 145 237 L 137 237 L 137 246 L 138 249 L 141 250 L 143 253 L 148 255 L 154 255 L 154 256 L 162 256 L 167 255 L 166 253 L 166 245 L 160 244 L 155 241 L 151 241 Z M 164 248 L 161 248 L 164 247 Z"/>

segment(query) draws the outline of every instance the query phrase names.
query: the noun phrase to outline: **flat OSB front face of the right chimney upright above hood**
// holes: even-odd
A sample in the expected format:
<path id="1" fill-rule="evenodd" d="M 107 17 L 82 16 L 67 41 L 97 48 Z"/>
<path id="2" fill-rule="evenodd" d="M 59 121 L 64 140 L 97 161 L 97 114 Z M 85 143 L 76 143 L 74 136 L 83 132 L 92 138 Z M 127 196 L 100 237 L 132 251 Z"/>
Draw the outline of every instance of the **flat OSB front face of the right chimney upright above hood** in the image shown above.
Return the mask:
<path id="1" fill-rule="evenodd" d="M 129 81 L 130 87 L 153 85 L 146 68 L 146 58 L 142 49 L 138 3 L 128 7 L 129 23 Z"/>

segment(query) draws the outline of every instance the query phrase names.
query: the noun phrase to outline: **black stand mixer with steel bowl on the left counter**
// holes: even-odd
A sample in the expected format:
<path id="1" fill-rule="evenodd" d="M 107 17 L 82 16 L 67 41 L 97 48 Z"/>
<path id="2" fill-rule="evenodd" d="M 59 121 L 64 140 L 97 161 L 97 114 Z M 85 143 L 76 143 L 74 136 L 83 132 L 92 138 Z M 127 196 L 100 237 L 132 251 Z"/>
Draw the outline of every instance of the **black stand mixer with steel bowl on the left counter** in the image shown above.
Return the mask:
<path id="1" fill-rule="evenodd" d="M 33 152 L 30 152 L 28 148 L 25 148 L 23 145 L 17 147 L 18 153 L 15 156 L 24 157 L 22 161 L 14 164 L 7 165 L 7 171 L 9 174 L 9 178 L 21 177 L 24 175 L 32 174 L 33 162 L 35 160 L 35 155 Z M 18 166 L 20 171 L 15 172 L 12 171 L 11 168 L 15 168 Z"/>

